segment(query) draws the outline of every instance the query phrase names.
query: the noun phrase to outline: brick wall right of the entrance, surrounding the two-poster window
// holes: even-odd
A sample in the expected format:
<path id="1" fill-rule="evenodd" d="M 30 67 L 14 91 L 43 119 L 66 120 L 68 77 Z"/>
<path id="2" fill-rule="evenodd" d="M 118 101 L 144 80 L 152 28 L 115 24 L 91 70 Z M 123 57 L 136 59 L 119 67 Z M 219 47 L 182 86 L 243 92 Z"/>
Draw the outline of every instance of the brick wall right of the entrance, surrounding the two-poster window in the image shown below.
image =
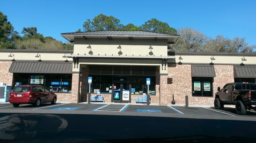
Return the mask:
<path id="1" fill-rule="evenodd" d="M 233 65 L 214 65 L 216 77 L 213 79 L 212 97 L 192 96 L 192 76 L 190 64 L 169 64 L 168 76 L 161 76 L 160 105 L 172 103 L 172 95 L 176 104 L 186 104 L 185 95 L 189 96 L 189 104 L 213 105 L 215 91 L 228 82 L 234 82 Z M 167 78 L 172 78 L 172 84 L 166 84 Z"/>

